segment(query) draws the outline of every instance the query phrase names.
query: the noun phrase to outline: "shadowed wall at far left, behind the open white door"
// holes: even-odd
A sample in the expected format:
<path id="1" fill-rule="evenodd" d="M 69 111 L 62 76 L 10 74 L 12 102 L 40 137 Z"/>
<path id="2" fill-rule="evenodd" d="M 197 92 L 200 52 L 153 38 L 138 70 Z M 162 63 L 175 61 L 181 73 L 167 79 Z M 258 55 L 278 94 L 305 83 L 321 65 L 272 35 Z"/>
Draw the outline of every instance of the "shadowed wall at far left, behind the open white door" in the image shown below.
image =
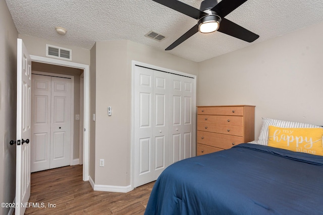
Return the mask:
<path id="1" fill-rule="evenodd" d="M 18 31 L 6 1 L 0 1 L 0 202 L 12 203 L 16 195 L 16 87 Z M 1 207 L 0 214 L 10 208 Z"/>

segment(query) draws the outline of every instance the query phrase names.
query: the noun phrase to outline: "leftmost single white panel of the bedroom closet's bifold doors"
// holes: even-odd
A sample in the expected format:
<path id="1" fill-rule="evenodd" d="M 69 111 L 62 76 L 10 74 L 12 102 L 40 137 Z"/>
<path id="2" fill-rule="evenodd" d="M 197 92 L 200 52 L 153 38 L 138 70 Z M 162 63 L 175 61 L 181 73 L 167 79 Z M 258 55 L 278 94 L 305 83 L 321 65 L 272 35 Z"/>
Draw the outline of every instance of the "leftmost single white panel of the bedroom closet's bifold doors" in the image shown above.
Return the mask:
<path id="1" fill-rule="evenodd" d="M 135 68 L 134 187 L 151 182 L 153 147 L 153 71 Z"/>

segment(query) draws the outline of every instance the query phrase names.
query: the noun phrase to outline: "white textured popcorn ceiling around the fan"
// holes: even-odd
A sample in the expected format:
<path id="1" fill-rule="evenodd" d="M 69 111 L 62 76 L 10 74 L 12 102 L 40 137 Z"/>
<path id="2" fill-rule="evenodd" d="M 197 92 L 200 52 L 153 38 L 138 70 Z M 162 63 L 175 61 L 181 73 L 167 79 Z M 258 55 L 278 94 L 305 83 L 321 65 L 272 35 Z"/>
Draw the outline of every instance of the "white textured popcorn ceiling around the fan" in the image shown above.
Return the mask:
<path id="1" fill-rule="evenodd" d="M 234 1 L 234 0 L 232 0 Z M 6 0 L 20 34 L 91 49 L 95 41 L 131 40 L 165 50 L 197 21 L 151 0 Z M 199 8 L 201 0 L 182 0 Z M 220 1 L 219 1 L 220 2 Z M 226 16 L 258 34 L 248 43 L 221 32 L 196 33 L 171 51 L 200 62 L 254 43 L 323 22 L 322 0 L 248 0 Z M 55 27 L 67 29 L 59 35 Z M 166 36 L 155 41 L 144 35 Z"/>

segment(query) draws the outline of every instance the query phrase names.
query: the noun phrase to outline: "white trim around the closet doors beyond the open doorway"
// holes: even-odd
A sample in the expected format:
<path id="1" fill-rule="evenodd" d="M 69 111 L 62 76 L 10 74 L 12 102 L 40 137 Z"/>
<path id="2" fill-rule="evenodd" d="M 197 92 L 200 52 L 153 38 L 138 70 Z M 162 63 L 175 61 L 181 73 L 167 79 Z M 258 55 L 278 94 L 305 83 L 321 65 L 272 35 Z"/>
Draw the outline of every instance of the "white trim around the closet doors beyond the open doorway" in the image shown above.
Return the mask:
<path id="1" fill-rule="evenodd" d="M 63 74 L 56 74 L 56 73 L 46 73 L 45 71 L 34 71 L 31 68 L 32 75 L 40 75 L 40 76 L 53 76 L 58 78 L 68 78 L 71 79 L 71 134 L 70 134 L 70 166 L 76 165 L 74 164 L 74 76 L 71 75 L 63 75 Z M 32 80 L 32 79 L 31 79 Z"/>

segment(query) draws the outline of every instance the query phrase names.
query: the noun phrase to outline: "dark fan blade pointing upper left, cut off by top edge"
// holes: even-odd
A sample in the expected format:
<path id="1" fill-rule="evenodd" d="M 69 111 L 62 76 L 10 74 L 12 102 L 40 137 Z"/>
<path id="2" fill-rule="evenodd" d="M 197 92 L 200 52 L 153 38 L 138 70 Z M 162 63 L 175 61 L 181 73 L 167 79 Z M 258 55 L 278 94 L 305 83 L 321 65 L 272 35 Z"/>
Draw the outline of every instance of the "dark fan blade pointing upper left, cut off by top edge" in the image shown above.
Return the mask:
<path id="1" fill-rule="evenodd" d="M 152 1 L 159 3 L 161 5 L 165 5 L 166 7 L 169 7 L 175 11 L 178 11 L 182 14 L 190 16 L 196 20 L 207 15 L 203 11 L 200 11 L 192 6 L 186 5 L 185 3 L 182 3 L 177 0 L 152 0 Z"/>

